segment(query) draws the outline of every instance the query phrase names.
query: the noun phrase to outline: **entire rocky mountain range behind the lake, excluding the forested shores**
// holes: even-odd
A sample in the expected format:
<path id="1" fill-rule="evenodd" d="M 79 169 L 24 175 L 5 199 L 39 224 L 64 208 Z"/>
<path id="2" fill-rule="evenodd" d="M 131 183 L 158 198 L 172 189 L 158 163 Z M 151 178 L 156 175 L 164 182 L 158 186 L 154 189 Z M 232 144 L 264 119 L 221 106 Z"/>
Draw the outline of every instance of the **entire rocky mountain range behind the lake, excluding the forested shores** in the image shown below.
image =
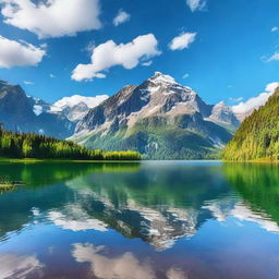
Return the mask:
<path id="1" fill-rule="evenodd" d="M 138 150 L 151 159 L 213 157 L 244 118 L 236 112 L 223 101 L 206 104 L 160 72 L 110 97 L 74 95 L 54 104 L 0 81 L 4 129 L 71 138 L 89 148 Z"/>

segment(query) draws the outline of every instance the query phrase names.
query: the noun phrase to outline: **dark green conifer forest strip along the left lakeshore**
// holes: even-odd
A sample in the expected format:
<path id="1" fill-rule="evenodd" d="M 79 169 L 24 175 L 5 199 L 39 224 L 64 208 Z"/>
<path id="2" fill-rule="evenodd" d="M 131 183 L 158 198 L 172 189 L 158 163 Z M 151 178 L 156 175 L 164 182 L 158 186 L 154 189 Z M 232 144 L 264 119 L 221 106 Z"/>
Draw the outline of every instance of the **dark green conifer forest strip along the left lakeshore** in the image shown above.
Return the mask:
<path id="1" fill-rule="evenodd" d="M 90 150 L 71 141 L 45 135 L 12 133 L 0 128 L 0 156 L 11 158 L 65 158 L 88 160 L 138 160 L 137 151 Z"/>

